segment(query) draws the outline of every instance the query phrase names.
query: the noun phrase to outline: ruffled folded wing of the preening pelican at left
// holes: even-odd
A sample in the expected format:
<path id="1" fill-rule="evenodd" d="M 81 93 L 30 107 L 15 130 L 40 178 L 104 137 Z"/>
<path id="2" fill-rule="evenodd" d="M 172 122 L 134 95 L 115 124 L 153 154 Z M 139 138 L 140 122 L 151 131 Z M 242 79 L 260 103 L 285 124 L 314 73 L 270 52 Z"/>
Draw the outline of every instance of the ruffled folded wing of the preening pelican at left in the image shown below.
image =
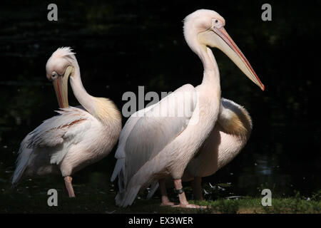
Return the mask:
<path id="1" fill-rule="evenodd" d="M 79 133 L 90 128 L 91 121 L 86 120 L 93 117 L 86 110 L 83 110 L 81 106 L 62 108 L 56 112 L 60 115 L 44 120 L 38 128 L 26 135 L 26 138 L 21 142 L 18 152 L 19 157 L 16 160 L 16 170 L 12 177 L 14 185 L 19 182 L 28 165 L 29 157 L 36 149 L 44 147 L 46 148 L 46 150 L 43 150 L 44 152 L 53 152 L 55 150 L 56 152 L 50 155 L 51 164 L 58 164 L 68 152 L 68 148 L 81 141 L 82 134 Z M 77 137 L 75 137 L 76 135 Z M 56 147 L 59 145 L 61 147 Z"/>

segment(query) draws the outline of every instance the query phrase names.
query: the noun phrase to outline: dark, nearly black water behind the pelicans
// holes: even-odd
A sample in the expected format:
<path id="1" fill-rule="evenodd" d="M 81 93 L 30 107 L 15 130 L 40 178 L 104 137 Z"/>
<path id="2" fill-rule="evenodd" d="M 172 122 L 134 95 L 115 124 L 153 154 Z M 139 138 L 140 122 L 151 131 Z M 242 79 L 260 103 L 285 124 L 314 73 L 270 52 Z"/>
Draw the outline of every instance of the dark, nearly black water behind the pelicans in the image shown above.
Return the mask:
<path id="1" fill-rule="evenodd" d="M 56 48 L 71 46 L 86 90 L 121 108 L 123 93 L 138 94 L 138 86 L 161 94 L 201 82 L 202 65 L 182 33 L 183 18 L 200 8 L 225 17 L 226 30 L 266 87 L 262 92 L 228 57 L 213 51 L 223 97 L 244 105 L 254 127 L 240 155 L 204 182 L 231 182 L 235 193 L 250 196 L 260 195 L 261 187 L 277 195 L 320 190 L 320 58 L 314 56 L 321 38 L 320 1 L 271 1 L 269 22 L 260 19 L 263 1 L 56 1 L 57 22 L 46 19 L 49 3 L 17 2 L 0 9 L 0 194 L 9 194 L 19 143 L 58 106 L 45 77 L 46 61 Z M 70 94 L 70 104 L 78 105 Z M 108 182 L 113 153 L 78 172 L 75 182 Z M 50 180 L 61 186 L 59 177 Z M 45 192 L 47 184 L 22 185 Z"/>

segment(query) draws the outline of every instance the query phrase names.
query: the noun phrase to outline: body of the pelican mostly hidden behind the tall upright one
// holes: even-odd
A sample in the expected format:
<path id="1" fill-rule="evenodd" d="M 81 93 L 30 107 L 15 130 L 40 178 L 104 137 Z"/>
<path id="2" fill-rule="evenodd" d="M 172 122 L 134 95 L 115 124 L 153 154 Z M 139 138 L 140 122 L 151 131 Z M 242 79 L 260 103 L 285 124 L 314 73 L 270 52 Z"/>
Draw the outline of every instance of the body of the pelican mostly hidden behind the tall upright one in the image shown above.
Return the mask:
<path id="1" fill-rule="evenodd" d="M 221 112 L 213 131 L 190 160 L 183 181 L 192 180 L 195 199 L 203 200 L 201 177 L 213 175 L 238 155 L 250 138 L 252 120 L 248 111 L 222 98 Z"/>

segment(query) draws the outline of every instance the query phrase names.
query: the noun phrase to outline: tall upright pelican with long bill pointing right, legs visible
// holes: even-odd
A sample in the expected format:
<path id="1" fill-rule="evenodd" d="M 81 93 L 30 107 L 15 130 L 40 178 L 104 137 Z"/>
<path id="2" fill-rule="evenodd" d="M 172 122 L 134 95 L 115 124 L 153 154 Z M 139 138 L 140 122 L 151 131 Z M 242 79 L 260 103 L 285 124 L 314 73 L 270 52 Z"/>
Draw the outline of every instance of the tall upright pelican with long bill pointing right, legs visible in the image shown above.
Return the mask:
<path id="1" fill-rule="evenodd" d="M 128 119 L 121 132 L 111 177 L 112 181 L 118 177 L 116 204 L 119 206 L 131 205 L 139 190 L 155 182 L 161 187 L 162 204 L 173 205 L 165 190 L 165 178 L 169 176 L 174 180 L 180 201 L 175 206 L 200 207 L 188 203 L 182 177 L 185 167 L 213 132 L 222 110 L 220 74 L 210 48 L 223 51 L 245 76 L 264 90 L 263 83 L 224 26 L 225 20 L 215 11 L 200 9 L 185 18 L 184 37 L 203 63 L 203 81 L 196 87 L 187 84 L 178 88 Z M 181 93 L 190 94 L 190 98 L 182 98 Z M 183 117 L 155 115 L 159 110 L 179 111 L 180 103 L 190 107 L 190 113 Z"/>

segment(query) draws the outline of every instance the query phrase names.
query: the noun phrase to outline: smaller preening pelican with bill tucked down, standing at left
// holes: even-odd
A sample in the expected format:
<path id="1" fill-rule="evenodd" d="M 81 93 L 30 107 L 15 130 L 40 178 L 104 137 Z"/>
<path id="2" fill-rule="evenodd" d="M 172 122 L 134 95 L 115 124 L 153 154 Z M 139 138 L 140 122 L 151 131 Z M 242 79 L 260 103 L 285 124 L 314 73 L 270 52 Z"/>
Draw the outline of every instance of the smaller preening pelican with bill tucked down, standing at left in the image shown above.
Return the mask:
<path id="1" fill-rule="evenodd" d="M 60 110 L 26 135 L 19 148 L 12 185 L 21 177 L 61 173 L 69 197 L 75 197 L 73 173 L 106 157 L 121 133 L 121 113 L 113 101 L 89 95 L 71 48 L 58 48 L 46 63 Z M 68 78 L 81 106 L 68 107 Z"/>

